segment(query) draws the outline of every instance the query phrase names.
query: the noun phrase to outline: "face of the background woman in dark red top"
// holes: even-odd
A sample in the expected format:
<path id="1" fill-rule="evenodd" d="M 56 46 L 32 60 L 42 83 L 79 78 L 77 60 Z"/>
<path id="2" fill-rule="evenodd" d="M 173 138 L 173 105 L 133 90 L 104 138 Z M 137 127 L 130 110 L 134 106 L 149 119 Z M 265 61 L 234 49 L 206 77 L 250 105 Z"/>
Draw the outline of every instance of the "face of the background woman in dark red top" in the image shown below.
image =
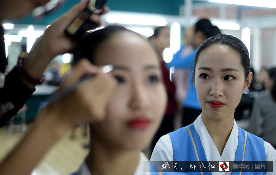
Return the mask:
<path id="1" fill-rule="evenodd" d="M 167 28 L 162 28 L 159 35 L 154 39 L 157 50 L 164 50 L 170 46 L 170 32 Z"/>

